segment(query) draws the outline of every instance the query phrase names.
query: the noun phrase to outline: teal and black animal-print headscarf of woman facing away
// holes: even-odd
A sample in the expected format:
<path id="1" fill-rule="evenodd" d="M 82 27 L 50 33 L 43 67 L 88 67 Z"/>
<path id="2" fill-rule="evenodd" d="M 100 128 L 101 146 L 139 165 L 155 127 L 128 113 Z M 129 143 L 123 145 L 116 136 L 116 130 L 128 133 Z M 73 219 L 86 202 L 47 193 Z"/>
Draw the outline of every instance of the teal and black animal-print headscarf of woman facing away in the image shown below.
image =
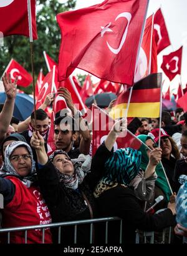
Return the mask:
<path id="1" fill-rule="evenodd" d="M 138 150 L 130 147 L 117 149 L 105 163 L 105 175 L 95 188 L 95 197 L 114 185 L 130 185 L 140 170 L 140 163 L 141 152 Z"/>

